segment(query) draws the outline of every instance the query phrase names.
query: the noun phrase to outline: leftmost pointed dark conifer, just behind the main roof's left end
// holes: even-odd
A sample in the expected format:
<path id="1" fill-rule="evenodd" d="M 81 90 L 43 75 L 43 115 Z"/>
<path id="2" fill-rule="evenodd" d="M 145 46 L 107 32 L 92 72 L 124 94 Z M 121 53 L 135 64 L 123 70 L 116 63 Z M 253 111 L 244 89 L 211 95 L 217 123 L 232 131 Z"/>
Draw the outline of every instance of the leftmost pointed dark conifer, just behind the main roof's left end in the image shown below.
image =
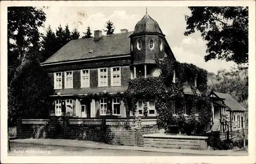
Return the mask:
<path id="1" fill-rule="evenodd" d="M 51 57 L 57 50 L 57 39 L 54 32 L 49 26 L 46 30 L 46 34 L 42 37 L 42 62 Z"/>

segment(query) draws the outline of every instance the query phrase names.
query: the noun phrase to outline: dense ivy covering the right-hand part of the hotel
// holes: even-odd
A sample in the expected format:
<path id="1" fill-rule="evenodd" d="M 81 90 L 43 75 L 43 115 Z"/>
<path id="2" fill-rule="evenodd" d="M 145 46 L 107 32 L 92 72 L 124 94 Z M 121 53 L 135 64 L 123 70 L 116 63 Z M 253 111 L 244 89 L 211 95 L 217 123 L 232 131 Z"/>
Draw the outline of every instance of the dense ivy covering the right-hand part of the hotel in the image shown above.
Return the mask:
<path id="1" fill-rule="evenodd" d="M 123 96 L 126 113 L 130 114 L 130 111 L 132 113 L 136 111 L 139 99 L 142 99 L 143 102 L 155 99 L 159 128 L 167 130 L 168 126 L 177 125 L 180 132 L 188 135 L 202 132 L 212 116 L 211 103 L 206 94 L 207 71 L 194 64 L 180 63 L 168 58 L 156 61 L 161 70 L 159 77 L 149 75 L 147 78 L 138 77 L 130 81 L 129 89 Z M 191 93 L 184 93 L 184 83 L 190 86 Z M 177 113 L 175 116 L 173 115 L 172 101 L 176 102 Z M 185 116 L 186 103 L 190 105 L 190 111 Z M 196 105 L 199 106 L 199 113 L 195 111 Z M 146 108 L 144 105 L 144 116 L 147 116 Z"/>

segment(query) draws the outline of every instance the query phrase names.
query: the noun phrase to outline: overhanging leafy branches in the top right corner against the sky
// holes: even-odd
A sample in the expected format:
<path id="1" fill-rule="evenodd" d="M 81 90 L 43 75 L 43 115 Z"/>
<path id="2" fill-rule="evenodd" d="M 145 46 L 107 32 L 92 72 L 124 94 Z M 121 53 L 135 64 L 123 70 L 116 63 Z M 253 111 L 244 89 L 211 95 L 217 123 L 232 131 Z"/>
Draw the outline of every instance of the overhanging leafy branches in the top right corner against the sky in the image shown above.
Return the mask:
<path id="1" fill-rule="evenodd" d="M 188 7 L 184 35 L 201 32 L 207 41 L 205 61 L 248 63 L 248 7 Z"/>

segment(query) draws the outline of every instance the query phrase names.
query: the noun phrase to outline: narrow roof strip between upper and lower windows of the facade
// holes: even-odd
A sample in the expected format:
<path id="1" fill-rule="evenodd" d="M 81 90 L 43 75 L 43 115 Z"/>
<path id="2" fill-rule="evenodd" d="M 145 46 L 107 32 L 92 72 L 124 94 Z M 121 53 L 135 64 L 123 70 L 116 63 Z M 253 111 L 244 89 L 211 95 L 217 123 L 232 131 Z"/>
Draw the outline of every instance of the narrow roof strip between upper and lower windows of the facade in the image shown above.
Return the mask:
<path id="1" fill-rule="evenodd" d="M 79 95 L 79 94 L 88 94 L 88 93 L 99 93 L 104 90 L 108 92 L 124 92 L 128 86 L 109 86 L 109 87 L 97 87 L 97 88 L 70 88 L 70 89 L 56 89 L 55 93 L 60 92 L 61 95 Z"/>

